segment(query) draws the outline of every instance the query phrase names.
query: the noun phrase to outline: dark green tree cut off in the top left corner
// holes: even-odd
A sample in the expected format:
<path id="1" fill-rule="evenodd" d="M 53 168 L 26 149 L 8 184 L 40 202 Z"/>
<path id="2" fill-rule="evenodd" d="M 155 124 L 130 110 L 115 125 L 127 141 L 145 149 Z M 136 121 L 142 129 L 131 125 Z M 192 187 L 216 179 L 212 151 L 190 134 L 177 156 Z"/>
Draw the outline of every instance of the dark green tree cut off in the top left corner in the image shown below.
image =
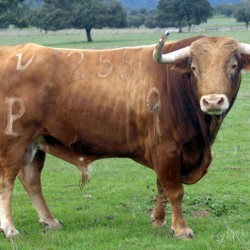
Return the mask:
<path id="1" fill-rule="evenodd" d="M 18 28 L 27 27 L 23 0 L 0 0 L 0 28 L 8 28 L 10 24 Z"/>

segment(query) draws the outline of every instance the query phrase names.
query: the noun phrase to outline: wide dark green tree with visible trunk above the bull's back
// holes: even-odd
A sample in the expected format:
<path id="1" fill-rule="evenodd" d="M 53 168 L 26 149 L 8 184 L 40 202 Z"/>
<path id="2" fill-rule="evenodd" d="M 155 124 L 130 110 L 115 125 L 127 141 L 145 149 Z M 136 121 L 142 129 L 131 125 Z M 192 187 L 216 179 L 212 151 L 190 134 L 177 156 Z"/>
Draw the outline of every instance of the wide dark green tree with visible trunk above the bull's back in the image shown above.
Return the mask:
<path id="1" fill-rule="evenodd" d="M 31 25 L 48 30 L 66 28 L 85 29 L 92 42 L 93 28 L 122 28 L 126 26 L 126 12 L 117 0 L 44 0 L 31 11 Z"/>

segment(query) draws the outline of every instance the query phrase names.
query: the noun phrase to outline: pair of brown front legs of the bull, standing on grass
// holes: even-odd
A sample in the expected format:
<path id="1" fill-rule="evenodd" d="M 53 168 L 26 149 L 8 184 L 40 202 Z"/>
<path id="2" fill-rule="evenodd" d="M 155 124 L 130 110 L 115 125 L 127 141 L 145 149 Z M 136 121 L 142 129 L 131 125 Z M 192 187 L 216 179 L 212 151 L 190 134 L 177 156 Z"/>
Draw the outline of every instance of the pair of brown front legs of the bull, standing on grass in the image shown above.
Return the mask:
<path id="1" fill-rule="evenodd" d="M 166 200 L 168 200 L 172 208 L 171 232 L 173 237 L 191 239 L 194 237 L 194 233 L 187 226 L 181 207 L 184 189 L 180 175 L 180 154 L 176 150 L 176 152 L 173 151 L 166 157 L 162 157 L 162 155 L 164 154 L 156 154 L 158 157 L 155 160 L 155 171 L 158 177 L 158 198 L 153 217 L 157 224 L 164 222 L 164 208 Z"/>

